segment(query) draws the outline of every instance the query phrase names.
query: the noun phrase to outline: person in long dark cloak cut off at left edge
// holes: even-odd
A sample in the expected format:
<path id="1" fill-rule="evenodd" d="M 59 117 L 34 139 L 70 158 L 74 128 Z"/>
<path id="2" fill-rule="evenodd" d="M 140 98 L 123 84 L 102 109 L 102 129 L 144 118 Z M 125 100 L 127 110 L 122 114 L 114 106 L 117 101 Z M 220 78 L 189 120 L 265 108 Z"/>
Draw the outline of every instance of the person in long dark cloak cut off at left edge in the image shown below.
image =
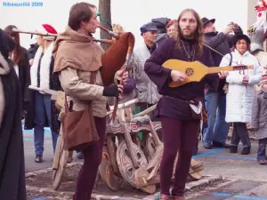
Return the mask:
<path id="1" fill-rule="evenodd" d="M 8 59 L 14 48 L 0 28 L 0 199 L 26 200 L 20 82 Z"/>

